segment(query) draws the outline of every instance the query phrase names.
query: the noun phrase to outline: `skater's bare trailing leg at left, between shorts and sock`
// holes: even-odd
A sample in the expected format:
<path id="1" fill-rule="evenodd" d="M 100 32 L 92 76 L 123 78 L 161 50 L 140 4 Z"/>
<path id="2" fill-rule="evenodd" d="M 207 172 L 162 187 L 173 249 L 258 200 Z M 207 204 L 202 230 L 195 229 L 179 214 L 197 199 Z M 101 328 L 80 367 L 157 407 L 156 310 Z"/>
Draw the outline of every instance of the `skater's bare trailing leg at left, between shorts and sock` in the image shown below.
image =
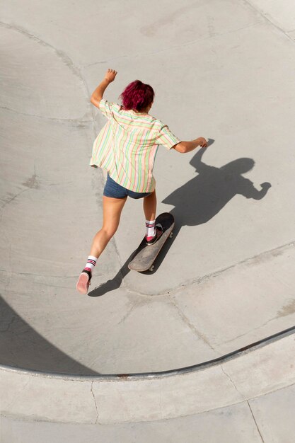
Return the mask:
<path id="1" fill-rule="evenodd" d="M 103 196 L 103 227 L 93 238 L 90 255 L 98 258 L 107 246 L 112 236 L 117 231 L 120 223 L 122 209 L 125 205 L 125 198 L 111 198 Z"/>

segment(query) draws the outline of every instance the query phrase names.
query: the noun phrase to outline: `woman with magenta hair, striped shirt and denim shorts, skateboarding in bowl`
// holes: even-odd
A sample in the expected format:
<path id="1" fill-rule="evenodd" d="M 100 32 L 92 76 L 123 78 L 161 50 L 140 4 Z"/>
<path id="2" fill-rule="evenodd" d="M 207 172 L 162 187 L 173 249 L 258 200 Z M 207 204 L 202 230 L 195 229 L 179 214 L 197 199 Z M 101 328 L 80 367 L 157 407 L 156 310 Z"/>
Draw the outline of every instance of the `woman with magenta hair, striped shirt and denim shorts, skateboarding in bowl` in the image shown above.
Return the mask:
<path id="1" fill-rule="evenodd" d="M 153 177 L 158 145 L 180 153 L 207 146 L 203 137 L 181 142 L 167 125 L 149 115 L 154 89 L 139 80 L 122 92 L 122 105 L 104 100 L 103 93 L 116 75 L 117 71 L 108 69 L 91 96 L 91 103 L 100 109 L 108 122 L 93 143 L 90 164 L 106 169 L 108 178 L 103 191 L 103 227 L 93 238 L 90 255 L 76 284 L 81 294 L 88 292 L 93 267 L 117 231 L 128 196 L 144 200 L 146 244 L 155 243 L 163 233 L 162 226 L 156 226 L 156 181 Z"/>

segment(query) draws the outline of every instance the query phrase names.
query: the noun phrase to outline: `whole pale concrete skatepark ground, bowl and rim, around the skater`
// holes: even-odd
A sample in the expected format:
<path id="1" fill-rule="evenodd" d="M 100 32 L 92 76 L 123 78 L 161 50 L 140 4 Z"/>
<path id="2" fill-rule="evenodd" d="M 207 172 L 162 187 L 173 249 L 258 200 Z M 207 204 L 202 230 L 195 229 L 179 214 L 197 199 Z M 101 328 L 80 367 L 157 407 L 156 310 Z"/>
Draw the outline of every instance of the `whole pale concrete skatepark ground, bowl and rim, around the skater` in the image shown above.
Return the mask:
<path id="1" fill-rule="evenodd" d="M 177 442 L 178 420 L 213 442 L 217 410 L 221 426 L 236 420 L 219 443 L 294 435 L 288 413 L 269 419 L 273 402 L 294 408 L 294 6 L 164 3 L 1 5 L 4 443 L 33 442 L 28 423 L 66 424 L 60 441 L 79 424 L 71 442 L 83 426 L 88 442 L 103 426 L 105 442 L 143 429 L 136 441 Z M 128 200 L 81 296 L 104 183 L 88 166 L 105 122 L 90 96 L 108 67 L 118 75 L 105 98 L 142 79 L 156 91 L 151 114 L 214 143 L 158 149 L 158 213 L 175 231 L 155 271 L 128 270 L 144 226 Z"/>

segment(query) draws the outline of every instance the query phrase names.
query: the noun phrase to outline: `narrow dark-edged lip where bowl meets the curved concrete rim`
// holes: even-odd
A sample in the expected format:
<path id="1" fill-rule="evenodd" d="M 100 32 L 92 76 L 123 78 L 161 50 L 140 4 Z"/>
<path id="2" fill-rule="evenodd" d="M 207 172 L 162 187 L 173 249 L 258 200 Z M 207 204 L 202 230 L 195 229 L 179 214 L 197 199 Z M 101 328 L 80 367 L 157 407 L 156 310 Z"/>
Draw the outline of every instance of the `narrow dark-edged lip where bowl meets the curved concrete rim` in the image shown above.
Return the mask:
<path id="1" fill-rule="evenodd" d="M 0 371 L 2 370 L 7 372 L 30 374 L 31 376 L 46 376 L 52 379 L 63 379 L 64 381 L 69 381 L 69 380 L 115 381 L 120 379 L 124 381 L 132 381 L 137 379 L 139 380 L 162 379 L 162 378 L 168 378 L 169 376 L 184 375 L 184 374 L 190 374 L 192 372 L 199 372 L 209 367 L 214 367 L 218 364 L 229 362 L 232 359 L 236 359 L 238 357 L 241 357 L 242 355 L 246 355 L 249 352 L 253 352 L 254 350 L 270 345 L 271 343 L 277 342 L 278 340 L 282 340 L 283 338 L 286 338 L 289 335 L 295 335 L 295 326 L 292 326 L 291 328 L 288 328 L 286 330 L 282 330 L 281 332 L 276 333 L 274 335 L 270 335 L 270 337 L 263 338 L 258 342 L 251 343 L 248 346 L 241 347 L 236 351 L 229 352 L 229 354 L 222 355 L 221 357 L 216 357 L 216 359 L 212 359 L 203 363 L 194 364 L 189 367 L 170 369 L 168 371 L 161 371 L 161 372 L 141 372 L 141 373 L 131 373 L 131 374 L 98 374 L 96 376 L 93 375 L 79 376 L 76 374 L 69 375 L 69 374 L 60 374 L 60 373 L 32 371 L 30 369 L 11 367 L 5 364 L 0 364 Z"/>

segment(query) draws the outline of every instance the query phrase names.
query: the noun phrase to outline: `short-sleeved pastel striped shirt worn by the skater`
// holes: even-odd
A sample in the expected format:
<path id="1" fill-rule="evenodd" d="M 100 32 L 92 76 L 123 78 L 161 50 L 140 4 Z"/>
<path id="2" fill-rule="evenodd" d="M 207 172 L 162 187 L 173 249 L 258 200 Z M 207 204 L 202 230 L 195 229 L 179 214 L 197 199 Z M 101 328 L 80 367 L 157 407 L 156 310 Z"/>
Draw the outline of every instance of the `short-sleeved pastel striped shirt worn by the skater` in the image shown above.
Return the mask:
<path id="1" fill-rule="evenodd" d="M 93 143 L 90 165 L 106 169 L 112 180 L 134 192 L 152 192 L 158 145 L 171 149 L 180 142 L 167 125 L 146 113 L 124 110 L 117 103 L 100 100 L 108 118 Z"/>

